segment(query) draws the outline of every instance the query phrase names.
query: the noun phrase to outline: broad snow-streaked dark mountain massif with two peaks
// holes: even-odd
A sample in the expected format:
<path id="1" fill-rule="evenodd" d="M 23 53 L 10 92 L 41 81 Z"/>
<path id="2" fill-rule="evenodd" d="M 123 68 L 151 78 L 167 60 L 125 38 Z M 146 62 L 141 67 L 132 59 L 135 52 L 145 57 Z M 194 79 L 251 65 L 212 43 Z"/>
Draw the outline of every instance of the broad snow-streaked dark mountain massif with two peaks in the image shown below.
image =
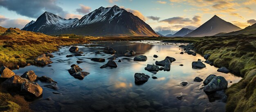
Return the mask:
<path id="1" fill-rule="evenodd" d="M 49 35 L 77 34 L 90 36 L 158 36 L 139 17 L 118 6 L 100 7 L 80 20 L 64 19 L 53 13 L 43 13 L 33 24 L 22 30 Z"/>

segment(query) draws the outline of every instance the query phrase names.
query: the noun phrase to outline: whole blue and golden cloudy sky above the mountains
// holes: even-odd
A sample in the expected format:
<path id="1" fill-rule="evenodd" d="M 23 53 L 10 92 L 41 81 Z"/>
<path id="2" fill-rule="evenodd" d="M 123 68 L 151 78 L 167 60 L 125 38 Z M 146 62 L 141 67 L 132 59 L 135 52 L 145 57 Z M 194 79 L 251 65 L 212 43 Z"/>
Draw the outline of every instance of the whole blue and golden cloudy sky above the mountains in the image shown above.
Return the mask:
<path id="1" fill-rule="evenodd" d="M 256 0 L 0 0 L 0 26 L 23 28 L 45 11 L 81 18 L 99 7 L 117 5 L 161 34 L 196 29 L 214 15 L 240 28 L 256 23 Z"/>

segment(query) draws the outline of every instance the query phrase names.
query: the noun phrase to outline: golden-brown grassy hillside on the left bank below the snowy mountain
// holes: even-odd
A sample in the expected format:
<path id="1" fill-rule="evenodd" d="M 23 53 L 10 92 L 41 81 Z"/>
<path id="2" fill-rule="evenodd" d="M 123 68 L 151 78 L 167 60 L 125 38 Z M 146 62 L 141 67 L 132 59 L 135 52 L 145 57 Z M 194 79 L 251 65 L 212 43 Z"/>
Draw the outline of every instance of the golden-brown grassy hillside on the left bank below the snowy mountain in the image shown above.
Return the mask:
<path id="1" fill-rule="evenodd" d="M 0 35 L 0 66 L 34 64 L 34 58 L 45 52 L 54 52 L 58 46 L 88 43 L 86 38 L 61 38 L 31 31 L 7 29 Z"/>

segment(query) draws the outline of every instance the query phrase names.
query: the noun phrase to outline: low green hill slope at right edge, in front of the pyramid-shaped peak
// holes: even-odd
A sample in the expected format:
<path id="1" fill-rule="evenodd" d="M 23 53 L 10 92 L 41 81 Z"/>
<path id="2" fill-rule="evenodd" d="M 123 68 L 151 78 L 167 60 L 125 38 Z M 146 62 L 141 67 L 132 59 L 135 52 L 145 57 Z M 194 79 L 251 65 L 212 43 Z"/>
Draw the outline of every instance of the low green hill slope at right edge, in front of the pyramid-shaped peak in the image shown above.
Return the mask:
<path id="1" fill-rule="evenodd" d="M 252 26 L 248 26 L 245 29 L 241 29 L 239 31 L 232 31 L 226 34 L 222 34 L 220 36 L 231 36 L 231 35 L 249 35 L 249 34 L 254 34 L 254 36 L 256 36 L 256 23 L 253 24 Z"/>

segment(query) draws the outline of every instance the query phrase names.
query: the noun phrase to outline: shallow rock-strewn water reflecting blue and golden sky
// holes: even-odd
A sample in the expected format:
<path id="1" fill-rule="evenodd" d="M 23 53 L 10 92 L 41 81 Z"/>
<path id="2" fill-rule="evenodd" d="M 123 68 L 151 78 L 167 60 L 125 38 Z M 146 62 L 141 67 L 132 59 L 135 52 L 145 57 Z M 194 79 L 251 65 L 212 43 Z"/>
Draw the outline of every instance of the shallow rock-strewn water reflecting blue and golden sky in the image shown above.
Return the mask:
<path id="1" fill-rule="evenodd" d="M 104 112 L 111 111 L 132 111 L 132 112 L 154 112 L 154 111 L 174 111 L 180 112 L 200 112 L 206 109 L 210 111 L 225 112 L 225 103 L 220 100 L 211 102 L 203 90 L 199 89 L 202 82 L 193 82 L 193 79 L 198 76 L 205 79 L 210 74 L 223 76 L 225 79 L 233 83 L 228 83 L 228 86 L 240 81 L 240 77 L 233 74 L 224 74 L 217 72 L 216 67 L 209 64 L 204 69 L 193 69 L 191 63 L 198 59 L 204 60 L 202 56 L 188 55 L 186 53 L 179 54 L 182 48 L 179 45 L 186 43 L 169 43 L 162 45 L 160 41 L 143 41 L 143 42 L 96 42 L 97 47 L 79 46 L 79 50 L 84 52 L 85 56 L 74 56 L 67 58 L 66 55 L 72 54 L 68 51 L 70 47 L 61 47 L 58 52 L 52 53 L 55 57 L 51 58 L 54 63 L 52 67 L 37 67 L 27 66 L 18 70 L 13 70 L 18 75 L 22 75 L 28 70 L 34 70 L 37 76 L 48 76 L 55 81 L 59 87 L 58 90 L 53 90 L 43 85 L 38 81 L 43 88 L 43 96 L 31 103 L 31 108 L 35 111 L 84 111 L 91 112 L 101 110 Z M 117 68 L 103 68 L 108 59 L 113 55 L 110 54 L 95 54 L 96 51 L 102 51 L 103 47 L 110 46 L 117 53 L 115 60 Z M 136 55 L 142 54 L 148 57 L 144 62 L 133 61 L 134 56 L 124 57 L 122 54 L 126 50 L 134 50 Z M 158 58 L 154 58 L 156 54 Z M 159 71 L 153 74 L 144 70 L 147 64 L 154 64 L 156 60 L 164 60 L 166 56 L 171 56 L 176 59 L 171 64 L 171 71 Z M 105 58 L 106 62 L 94 62 L 90 58 Z M 130 59 L 129 59 L 130 58 Z M 117 62 L 121 59 L 123 62 Z M 153 60 L 155 59 L 155 60 Z M 81 60 L 83 63 L 77 64 L 76 61 Z M 83 80 L 74 78 L 68 73 L 70 65 L 79 65 L 84 72 L 89 72 Z M 184 66 L 180 66 L 183 64 Z M 135 85 L 134 74 L 145 73 L 149 76 L 156 76 L 157 79 L 149 78 L 148 82 L 143 85 Z M 182 81 L 188 82 L 188 85 L 182 87 Z M 61 94 L 53 94 L 59 92 Z M 139 94 L 136 98 L 131 98 L 128 93 L 135 92 Z M 176 99 L 180 93 L 184 94 L 182 100 Z M 46 100 L 51 98 L 51 100 Z M 148 101 L 150 106 L 140 106 L 142 101 Z M 153 102 L 161 104 L 154 105 Z M 159 106 L 160 105 L 160 106 Z M 172 109 L 176 108 L 176 109 Z M 170 110 L 171 109 L 171 110 Z"/>

